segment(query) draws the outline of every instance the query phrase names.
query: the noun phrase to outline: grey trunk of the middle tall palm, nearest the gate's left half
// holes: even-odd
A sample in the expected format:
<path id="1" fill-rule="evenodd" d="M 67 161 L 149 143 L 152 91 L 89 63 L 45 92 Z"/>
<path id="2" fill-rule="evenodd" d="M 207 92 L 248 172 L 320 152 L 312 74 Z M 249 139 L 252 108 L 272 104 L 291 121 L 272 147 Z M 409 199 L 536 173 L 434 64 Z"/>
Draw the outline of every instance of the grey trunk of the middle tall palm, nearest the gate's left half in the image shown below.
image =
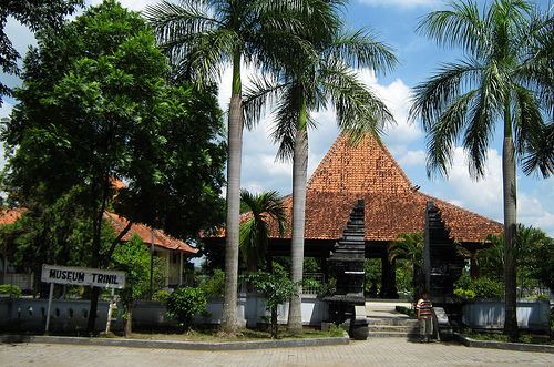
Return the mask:
<path id="1" fill-rule="evenodd" d="M 308 130 L 306 98 L 300 93 L 300 113 L 295 140 L 293 157 L 293 238 L 291 278 L 297 284 L 297 295 L 290 298 L 288 310 L 288 328 L 293 333 L 302 329 L 301 281 L 304 272 L 304 230 L 306 220 L 306 180 L 308 175 Z"/>

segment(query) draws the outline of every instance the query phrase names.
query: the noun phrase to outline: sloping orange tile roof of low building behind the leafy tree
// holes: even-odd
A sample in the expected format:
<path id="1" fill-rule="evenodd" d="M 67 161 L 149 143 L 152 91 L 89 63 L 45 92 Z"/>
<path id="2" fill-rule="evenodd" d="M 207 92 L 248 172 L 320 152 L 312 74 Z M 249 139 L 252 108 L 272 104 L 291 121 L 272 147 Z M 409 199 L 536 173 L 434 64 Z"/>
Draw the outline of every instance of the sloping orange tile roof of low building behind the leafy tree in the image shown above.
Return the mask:
<path id="1" fill-rule="evenodd" d="M 105 212 L 104 218 L 112 225 L 112 227 L 117 231 L 123 231 L 127 225 L 129 221 L 115 213 Z M 129 241 L 133 235 L 137 235 L 146 244 L 154 244 L 154 246 L 178 251 L 187 254 L 198 253 L 197 248 L 189 246 L 184 241 L 174 238 L 165 234 L 162 230 L 152 230 L 145 224 L 133 223 L 129 232 L 123 236 L 123 241 Z"/>

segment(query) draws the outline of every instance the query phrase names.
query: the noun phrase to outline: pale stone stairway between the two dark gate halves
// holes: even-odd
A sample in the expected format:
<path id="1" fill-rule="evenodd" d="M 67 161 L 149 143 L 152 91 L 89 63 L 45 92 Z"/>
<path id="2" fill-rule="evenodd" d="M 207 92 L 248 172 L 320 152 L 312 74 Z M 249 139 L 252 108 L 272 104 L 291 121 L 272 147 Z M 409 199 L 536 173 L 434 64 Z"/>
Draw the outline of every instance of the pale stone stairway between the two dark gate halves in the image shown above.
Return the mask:
<path id="1" fill-rule="evenodd" d="M 408 315 L 398 313 L 394 309 L 396 305 L 406 306 L 398 302 L 366 303 L 369 337 L 414 338 L 418 336 L 418 320 Z M 409 304 L 407 305 L 409 306 Z"/>

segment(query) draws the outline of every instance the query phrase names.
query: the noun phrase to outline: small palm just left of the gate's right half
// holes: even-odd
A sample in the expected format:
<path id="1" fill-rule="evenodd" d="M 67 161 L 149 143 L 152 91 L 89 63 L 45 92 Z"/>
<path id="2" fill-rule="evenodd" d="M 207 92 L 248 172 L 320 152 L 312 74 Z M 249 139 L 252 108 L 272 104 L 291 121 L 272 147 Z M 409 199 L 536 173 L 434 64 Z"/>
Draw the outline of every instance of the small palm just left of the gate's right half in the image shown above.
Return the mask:
<path id="1" fill-rule="evenodd" d="M 412 266 L 413 272 L 413 290 L 414 297 L 418 297 L 423 292 L 423 248 L 425 243 L 423 234 L 401 233 L 398 238 L 389 245 L 389 261 L 392 263 L 399 258 L 406 258 Z"/>

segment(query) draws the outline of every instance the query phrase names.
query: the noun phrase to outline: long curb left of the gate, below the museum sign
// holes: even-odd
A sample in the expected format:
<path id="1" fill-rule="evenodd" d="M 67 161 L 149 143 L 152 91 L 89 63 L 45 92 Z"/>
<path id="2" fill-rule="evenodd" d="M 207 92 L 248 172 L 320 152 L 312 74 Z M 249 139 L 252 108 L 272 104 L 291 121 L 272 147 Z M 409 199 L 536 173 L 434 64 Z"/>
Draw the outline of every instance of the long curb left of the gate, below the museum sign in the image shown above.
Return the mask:
<path id="1" fill-rule="evenodd" d="M 84 346 L 111 346 L 129 348 L 154 349 L 186 349 L 186 350 L 247 350 L 268 348 L 299 348 L 329 345 L 347 345 L 348 336 L 314 338 L 299 340 L 264 340 L 264 341 L 229 341 L 229 343 L 198 343 L 198 341 L 171 341 L 171 340 L 141 340 L 141 339 L 112 339 L 85 338 L 71 336 L 42 336 L 42 335 L 0 335 L 1 343 L 41 343 L 41 344 L 71 344 Z"/>

